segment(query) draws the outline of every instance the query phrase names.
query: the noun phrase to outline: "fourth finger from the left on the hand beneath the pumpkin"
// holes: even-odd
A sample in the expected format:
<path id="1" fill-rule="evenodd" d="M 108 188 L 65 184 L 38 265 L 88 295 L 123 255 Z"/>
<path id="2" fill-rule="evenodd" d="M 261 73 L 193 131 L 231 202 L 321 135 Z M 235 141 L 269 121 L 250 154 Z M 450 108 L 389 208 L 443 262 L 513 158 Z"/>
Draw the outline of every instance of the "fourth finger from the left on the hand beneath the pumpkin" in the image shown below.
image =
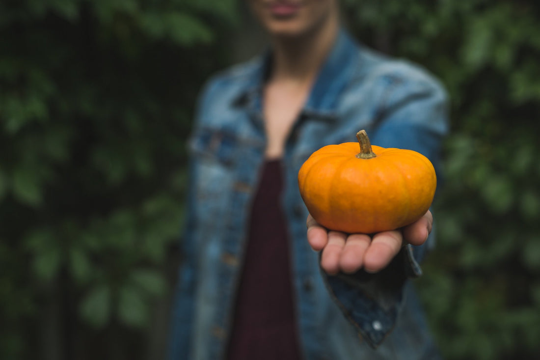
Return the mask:
<path id="1" fill-rule="evenodd" d="M 377 272 L 386 268 L 400 251 L 402 242 L 401 231 L 384 231 L 375 234 L 364 255 L 364 269 L 368 272 Z"/>

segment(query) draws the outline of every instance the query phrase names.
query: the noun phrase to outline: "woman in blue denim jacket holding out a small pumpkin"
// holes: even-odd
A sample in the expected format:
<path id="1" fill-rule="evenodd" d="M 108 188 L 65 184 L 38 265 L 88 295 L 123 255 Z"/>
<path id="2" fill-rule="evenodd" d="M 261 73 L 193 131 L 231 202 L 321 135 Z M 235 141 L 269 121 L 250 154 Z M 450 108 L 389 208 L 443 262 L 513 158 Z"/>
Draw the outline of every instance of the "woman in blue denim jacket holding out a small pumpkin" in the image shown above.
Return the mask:
<path id="1" fill-rule="evenodd" d="M 296 176 L 313 151 L 360 129 L 436 166 L 444 91 L 357 45 L 335 0 L 249 4 L 271 50 L 201 96 L 171 359 L 436 358 L 407 281 L 421 274 L 430 212 L 371 236 L 328 231 Z"/>

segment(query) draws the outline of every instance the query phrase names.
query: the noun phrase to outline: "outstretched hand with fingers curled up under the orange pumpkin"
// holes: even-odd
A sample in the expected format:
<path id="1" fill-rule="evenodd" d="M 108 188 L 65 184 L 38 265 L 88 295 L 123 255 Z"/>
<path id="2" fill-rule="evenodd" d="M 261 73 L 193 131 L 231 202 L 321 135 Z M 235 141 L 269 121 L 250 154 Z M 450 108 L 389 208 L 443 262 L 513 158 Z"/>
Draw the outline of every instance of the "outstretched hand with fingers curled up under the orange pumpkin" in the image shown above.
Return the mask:
<path id="1" fill-rule="evenodd" d="M 426 242 L 433 215 L 428 210 L 416 222 L 399 230 L 366 234 L 345 234 L 319 225 L 307 217 L 307 239 L 315 251 L 322 250 L 321 267 L 327 274 L 339 271 L 352 274 L 363 268 L 367 272 L 378 272 L 386 268 L 405 244 L 422 245 Z"/>

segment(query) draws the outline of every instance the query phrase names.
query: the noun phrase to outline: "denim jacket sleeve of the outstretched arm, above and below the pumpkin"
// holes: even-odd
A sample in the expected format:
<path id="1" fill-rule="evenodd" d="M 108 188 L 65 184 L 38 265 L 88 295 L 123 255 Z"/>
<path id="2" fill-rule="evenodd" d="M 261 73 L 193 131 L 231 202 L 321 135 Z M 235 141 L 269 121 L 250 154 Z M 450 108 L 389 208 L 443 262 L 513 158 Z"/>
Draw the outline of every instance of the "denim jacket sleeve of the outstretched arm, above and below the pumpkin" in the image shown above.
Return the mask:
<path id="1" fill-rule="evenodd" d="M 447 96 L 433 79 L 396 79 L 384 92 L 380 110 L 368 129 L 373 144 L 410 149 L 427 156 L 438 170 L 438 153 L 447 132 Z M 386 269 L 377 274 L 322 276 L 349 322 L 372 347 L 393 329 L 402 306 L 404 284 L 422 274 L 419 263 L 433 241 L 422 246 L 405 245 Z"/>

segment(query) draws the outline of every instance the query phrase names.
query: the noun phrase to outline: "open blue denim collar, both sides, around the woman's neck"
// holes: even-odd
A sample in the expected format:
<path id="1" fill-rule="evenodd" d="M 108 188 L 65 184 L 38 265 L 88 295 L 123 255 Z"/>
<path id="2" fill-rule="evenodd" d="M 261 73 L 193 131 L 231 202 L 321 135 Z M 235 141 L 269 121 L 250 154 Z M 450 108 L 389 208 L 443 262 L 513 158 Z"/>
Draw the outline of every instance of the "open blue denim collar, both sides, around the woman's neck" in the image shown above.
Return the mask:
<path id="1" fill-rule="evenodd" d="M 302 114 L 310 117 L 334 121 L 338 108 L 338 99 L 360 61 L 359 46 L 343 29 L 340 29 L 336 41 L 313 85 L 303 107 Z M 252 111 L 261 112 L 262 86 L 269 71 L 271 52 L 265 51 L 254 61 L 252 71 L 247 78 L 245 88 L 234 97 L 233 105 L 246 106 Z"/>

